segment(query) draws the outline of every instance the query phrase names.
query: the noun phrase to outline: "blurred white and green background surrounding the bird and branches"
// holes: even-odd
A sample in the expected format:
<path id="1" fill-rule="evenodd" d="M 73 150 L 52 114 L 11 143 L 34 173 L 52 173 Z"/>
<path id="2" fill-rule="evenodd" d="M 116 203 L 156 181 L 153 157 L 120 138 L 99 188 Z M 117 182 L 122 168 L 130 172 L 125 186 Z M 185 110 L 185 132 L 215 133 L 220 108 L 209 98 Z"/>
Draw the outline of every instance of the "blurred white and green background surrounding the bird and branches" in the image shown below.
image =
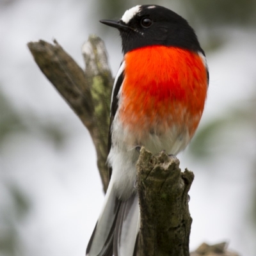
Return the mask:
<path id="1" fill-rule="evenodd" d="M 104 194 L 86 129 L 40 72 L 26 44 L 56 38 L 84 67 L 99 35 L 115 76 L 118 19 L 141 0 L 0 0 L 0 255 L 84 255 Z M 195 28 L 210 70 L 205 112 L 182 169 L 195 173 L 191 250 L 228 241 L 256 255 L 256 1 L 154 1 Z"/>

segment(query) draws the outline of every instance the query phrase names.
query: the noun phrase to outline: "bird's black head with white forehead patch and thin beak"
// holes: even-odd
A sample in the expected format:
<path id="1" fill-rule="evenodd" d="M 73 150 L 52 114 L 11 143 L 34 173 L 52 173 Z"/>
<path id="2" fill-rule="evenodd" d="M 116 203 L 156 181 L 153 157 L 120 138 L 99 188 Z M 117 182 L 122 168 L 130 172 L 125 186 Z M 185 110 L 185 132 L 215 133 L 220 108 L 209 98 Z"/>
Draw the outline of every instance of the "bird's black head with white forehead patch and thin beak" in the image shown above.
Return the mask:
<path id="1" fill-rule="evenodd" d="M 100 22 L 120 31 L 124 54 L 148 45 L 176 46 L 204 53 L 187 20 L 162 6 L 137 5 L 118 21 Z"/>

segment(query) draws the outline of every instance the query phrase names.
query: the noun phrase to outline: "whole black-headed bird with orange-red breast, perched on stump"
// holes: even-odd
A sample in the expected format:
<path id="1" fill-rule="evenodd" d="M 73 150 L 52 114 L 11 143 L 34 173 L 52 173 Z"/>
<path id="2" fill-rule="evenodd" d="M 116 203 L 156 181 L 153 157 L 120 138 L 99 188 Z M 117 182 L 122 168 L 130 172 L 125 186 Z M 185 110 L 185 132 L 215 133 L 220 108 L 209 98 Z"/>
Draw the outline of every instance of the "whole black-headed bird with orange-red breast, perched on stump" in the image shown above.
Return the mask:
<path id="1" fill-rule="evenodd" d="M 111 177 L 86 255 L 132 256 L 140 232 L 140 148 L 177 156 L 187 147 L 204 111 L 209 69 L 194 29 L 168 8 L 137 5 L 100 22 L 118 29 L 124 58 L 111 95 Z"/>

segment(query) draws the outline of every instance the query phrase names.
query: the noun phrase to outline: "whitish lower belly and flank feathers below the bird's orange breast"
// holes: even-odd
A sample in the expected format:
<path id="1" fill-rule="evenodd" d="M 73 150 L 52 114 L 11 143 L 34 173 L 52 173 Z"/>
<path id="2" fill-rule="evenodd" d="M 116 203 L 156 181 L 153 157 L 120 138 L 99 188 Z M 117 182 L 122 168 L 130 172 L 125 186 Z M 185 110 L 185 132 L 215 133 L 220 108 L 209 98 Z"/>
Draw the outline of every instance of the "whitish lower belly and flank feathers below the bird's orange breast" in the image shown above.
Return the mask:
<path id="1" fill-rule="evenodd" d="M 117 116 L 116 116 L 117 117 Z M 139 152 L 136 147 L 144 146 L 153 154 L 165 150 L 167 154 L 177 155 L 189 143 L 189 132 L 172 127 L 164 134 L 149 133 L 138 141 L 136 134 L 125 130 L 115 120 L 112 127 L 112 147 L 108 163 L 112 166 L 111 180 L 118 198 L 129 198 L 136 182 L 136 162 Z"/>

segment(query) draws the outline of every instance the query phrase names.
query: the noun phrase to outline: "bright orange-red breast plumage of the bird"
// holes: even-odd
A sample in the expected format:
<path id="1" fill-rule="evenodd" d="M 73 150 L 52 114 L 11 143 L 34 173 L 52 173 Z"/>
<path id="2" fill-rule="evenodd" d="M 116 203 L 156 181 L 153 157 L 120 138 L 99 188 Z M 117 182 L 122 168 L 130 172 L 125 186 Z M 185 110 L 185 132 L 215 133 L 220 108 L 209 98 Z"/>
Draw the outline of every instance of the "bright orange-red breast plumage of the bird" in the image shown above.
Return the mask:
<path id="1" fill-rule="evenodd" d="M 124 60 L 122 124 L 139 136 L 188 125 L 193 136 L 207 93 L 207 72 L 200 55 L 157 45 L 128 52 Z"/>

